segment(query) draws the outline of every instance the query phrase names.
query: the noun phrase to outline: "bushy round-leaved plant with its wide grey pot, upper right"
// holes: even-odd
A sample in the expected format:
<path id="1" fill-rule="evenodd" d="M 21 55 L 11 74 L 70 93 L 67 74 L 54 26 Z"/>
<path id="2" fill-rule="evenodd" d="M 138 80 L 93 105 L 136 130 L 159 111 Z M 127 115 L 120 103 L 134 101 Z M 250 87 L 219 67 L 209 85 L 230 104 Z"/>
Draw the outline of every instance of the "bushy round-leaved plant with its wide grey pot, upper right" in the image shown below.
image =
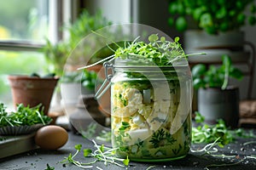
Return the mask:
<path id="1" fill-rule="evenodd" d="M 241 27 L 256 24 L 254 0 L 174 0 L 169 13 L 169 25 L 184 31 L 186 53 L 207 54 L 189 58 L 190 63 L 220 63 L 222 54 L 239 62 L 249 59 Z"/>

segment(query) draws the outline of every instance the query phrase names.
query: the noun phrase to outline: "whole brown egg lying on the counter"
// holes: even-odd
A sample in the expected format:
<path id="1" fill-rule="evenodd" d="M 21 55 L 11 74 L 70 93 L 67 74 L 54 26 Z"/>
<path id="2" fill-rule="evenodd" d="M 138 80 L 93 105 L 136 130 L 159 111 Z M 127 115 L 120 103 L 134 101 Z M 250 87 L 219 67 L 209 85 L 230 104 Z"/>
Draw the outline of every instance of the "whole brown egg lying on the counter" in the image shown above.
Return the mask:
<path id="1" fill-rule="evenodd" d="M 45 150 L 57 150 L 67 143 L 68 134 L 63 127 L 49 125 L 41 127 L 35 136 L 35 143 Z"/>

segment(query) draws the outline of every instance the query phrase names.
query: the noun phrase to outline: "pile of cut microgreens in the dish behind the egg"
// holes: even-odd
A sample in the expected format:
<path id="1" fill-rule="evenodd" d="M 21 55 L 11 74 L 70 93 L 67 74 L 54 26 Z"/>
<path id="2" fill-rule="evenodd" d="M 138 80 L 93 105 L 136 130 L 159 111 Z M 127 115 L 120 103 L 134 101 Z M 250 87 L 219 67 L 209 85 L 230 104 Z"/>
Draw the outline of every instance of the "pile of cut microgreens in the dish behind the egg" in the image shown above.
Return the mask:
<path id="1" fill-rule="evenodd" d="M 0 127 L 6 126 L 31 126 L 34 124 L 42 123 L 48 124 L 52 119 L 44 115 L 44 109 L 40 110 L 41 105 L 30 107 L 23 104 L 17 105 L 17 111 L 10 114 L 7 113 L 6 106 L 0 104 Z"/>

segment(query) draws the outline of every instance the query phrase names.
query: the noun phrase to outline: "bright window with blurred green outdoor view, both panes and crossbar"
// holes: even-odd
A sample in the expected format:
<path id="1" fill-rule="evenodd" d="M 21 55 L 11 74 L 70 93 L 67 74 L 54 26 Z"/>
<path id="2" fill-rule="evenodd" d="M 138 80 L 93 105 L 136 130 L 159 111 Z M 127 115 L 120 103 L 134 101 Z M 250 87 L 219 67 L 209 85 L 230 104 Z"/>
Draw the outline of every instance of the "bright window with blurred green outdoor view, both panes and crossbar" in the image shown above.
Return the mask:
<path id="1" fill-rule="evenodd" d="M 49 34 L 48 0 L 8 0 L 0 5 L 0 102 L 11 103 L 9 74 L 45 74 L 39 50 Z"/>

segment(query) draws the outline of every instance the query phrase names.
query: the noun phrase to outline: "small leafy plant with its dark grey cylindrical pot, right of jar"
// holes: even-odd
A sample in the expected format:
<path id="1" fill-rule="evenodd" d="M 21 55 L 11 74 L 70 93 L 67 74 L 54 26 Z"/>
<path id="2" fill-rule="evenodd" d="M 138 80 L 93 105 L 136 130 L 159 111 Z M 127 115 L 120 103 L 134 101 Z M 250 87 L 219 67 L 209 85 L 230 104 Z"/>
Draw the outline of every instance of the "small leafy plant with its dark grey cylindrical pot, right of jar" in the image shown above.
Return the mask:
<path id="1" fill-rule="evenodd" d="M 230 77 L 241 80 L 241 71 L 235 68 L 228 55 L 223 55 L 220 67 L 198 64 L 192 68 L 194 87 L 198 89 L 198 111 L 206 122 L 224 119 L 236 127 L 239 117 L 239 89 L 229 85 Z"/>

